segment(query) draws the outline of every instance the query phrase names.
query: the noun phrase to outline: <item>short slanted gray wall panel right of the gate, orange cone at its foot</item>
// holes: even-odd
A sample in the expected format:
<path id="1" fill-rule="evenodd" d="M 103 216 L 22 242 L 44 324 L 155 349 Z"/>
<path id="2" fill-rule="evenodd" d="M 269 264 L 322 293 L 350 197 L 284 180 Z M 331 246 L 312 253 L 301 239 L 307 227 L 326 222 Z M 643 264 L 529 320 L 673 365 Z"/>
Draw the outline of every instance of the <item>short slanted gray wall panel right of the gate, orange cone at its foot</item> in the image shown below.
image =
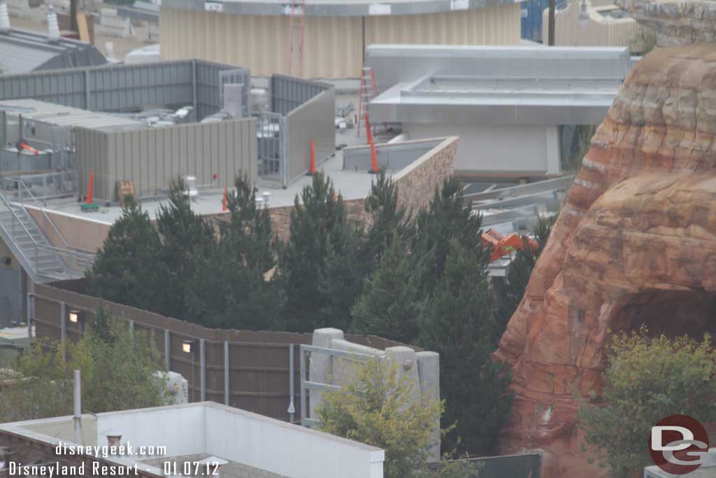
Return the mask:
<path id="1" fill-rule="evenodd" d="M 316 143 L 316 164 L 336 152 L 336 90 L 330 87 L 286 115 L 286 181 L 311 166 L 311 139 Z"/>

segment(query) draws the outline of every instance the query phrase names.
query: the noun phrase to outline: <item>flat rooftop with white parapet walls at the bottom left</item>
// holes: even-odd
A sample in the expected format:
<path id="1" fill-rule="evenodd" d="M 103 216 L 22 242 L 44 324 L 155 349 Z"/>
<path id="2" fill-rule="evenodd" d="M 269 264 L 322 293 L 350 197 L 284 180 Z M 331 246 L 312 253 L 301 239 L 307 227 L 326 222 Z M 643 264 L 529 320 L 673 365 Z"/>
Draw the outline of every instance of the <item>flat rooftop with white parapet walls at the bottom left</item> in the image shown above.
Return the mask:
<path id="1" fill-rule="evenodd" d="M 228 476 L 383 476 L 382 449 L 213 402 L 87 414 L 81 421 L 81 445 L 101 448 L 83 449 L 79 457 L 55 455 L 49 463 L 96 458 L 112 466 L 136 465 L 147 477 L 180 476 L 183 462 L 200 459 L 222 464 L 219 471 Z M 54 455 L 58 444 L 78 445 L 72 416 L 0 424 L 0 434 L 15 437 L 12 461 L 23 458 L 26 444 L 35 457 L 40 451 Z M 112 453 L 108 436 L 121 436 L 126 451 Z M 167 463 L 177 467 L 167 473 Z"/>

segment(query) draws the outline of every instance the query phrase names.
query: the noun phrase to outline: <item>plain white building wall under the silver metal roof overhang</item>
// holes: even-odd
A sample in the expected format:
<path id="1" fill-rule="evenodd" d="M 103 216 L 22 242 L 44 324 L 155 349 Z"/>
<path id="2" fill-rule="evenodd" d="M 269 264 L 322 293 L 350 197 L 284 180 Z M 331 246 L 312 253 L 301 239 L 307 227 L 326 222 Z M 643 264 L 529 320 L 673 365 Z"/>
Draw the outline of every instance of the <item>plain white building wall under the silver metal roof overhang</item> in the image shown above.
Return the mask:
<path id="1" fill-rule="evenodd" d="M 556 174 L 561 171 L 557 126 L 403 123 L 403 133 L 409 140 L 459 136 L 457 173 Z"/>

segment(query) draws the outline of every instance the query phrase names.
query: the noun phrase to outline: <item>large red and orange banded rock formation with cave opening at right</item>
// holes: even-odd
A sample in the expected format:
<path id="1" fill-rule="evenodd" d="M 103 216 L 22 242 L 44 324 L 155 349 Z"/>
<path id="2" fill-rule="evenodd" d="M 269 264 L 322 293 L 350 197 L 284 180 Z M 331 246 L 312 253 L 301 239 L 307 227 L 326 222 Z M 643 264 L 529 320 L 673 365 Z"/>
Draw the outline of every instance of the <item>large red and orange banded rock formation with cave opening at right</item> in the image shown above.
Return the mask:
<path id="1" fill-rule="evenodd" d="M 500 452 L 545 450 L 546 478 L 604 476 L 574 415 L 611 330 L 714 328 L 715 297 L 716 44 L 657 49 L 594 135 L 495 353 L 516 391 Z"/>

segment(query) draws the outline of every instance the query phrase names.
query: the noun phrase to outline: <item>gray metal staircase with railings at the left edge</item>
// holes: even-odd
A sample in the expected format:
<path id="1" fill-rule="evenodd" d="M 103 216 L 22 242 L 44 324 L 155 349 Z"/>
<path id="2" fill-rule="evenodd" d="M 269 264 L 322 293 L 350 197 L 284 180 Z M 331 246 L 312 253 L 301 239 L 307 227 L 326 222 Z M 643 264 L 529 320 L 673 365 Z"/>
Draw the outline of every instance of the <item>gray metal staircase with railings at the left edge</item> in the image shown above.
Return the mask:
<path id="1" fill-rule="evenodd" d="M 19 181 L 20 202 L 11 202 L 0 191 L 0 237 L 8 245 L 33 282 L 42 284 L 57 280 L 79 279 L 84 270 L 92 265 L 95 254 L 67 246 L 62 234 L 42 208 L 46 223 L 54 229 L 65 248 L 50 244 L 42 229 L 27 212 L 23 198 L 32 192 Z"/>

